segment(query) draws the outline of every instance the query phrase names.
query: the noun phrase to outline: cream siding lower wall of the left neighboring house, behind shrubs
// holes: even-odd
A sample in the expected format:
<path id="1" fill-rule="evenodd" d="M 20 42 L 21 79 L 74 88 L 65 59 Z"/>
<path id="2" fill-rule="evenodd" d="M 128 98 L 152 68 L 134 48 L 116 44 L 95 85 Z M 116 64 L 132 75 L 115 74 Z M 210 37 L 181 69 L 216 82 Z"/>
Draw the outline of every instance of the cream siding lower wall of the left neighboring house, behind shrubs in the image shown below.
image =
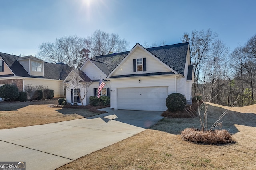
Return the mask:
<path id="1" fill-rule="evenodd" d="M 24 87 L 26 85 L 43 85 L 47 86 L 48 89 L 54 90 L 54 98 L 63 97 L 63 85 L 62 80 L 49 80 L 40 78 L 25 78 Z"/>

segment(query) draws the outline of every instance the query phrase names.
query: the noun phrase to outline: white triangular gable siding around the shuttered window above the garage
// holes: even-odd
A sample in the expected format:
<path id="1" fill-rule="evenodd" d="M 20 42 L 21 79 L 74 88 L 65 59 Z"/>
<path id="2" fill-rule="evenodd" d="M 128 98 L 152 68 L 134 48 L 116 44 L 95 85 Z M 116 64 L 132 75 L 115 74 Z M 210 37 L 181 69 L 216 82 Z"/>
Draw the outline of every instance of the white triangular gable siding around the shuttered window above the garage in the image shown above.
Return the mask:
<path id="1" fill-rule="evenodd" d="M 139 71 L 133 72 L 133 59 L 139 58 L 147 58 L 147 71 Z M 119 67 L 118 70 L 114 72 L 112 76 L 116 75 L 128 75 L 128 74 L 144 74 L 144 73 L 152 73 L 152 72 L 168 72 L 170 69 L 165 67 L 162 63 L 158 60 L 154 59 L 140 47 L 137 47 L 135 51 L 128 56 L 128 59 L 124 61 Z"/>

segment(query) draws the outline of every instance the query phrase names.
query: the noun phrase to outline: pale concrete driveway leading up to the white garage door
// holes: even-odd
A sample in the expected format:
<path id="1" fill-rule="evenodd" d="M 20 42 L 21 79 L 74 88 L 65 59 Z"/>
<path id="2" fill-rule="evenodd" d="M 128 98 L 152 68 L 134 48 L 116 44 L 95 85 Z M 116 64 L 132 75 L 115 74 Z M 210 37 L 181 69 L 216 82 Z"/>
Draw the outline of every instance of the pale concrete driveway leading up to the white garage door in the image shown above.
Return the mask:
<path id="1" fill-rule="evenodd" d="M 88 118 L 3 129 L 0 161 L 24 161 L 26 170 L 54 170 L 144 131 L 162 119 L 161 113 L 109 109 Z"/>

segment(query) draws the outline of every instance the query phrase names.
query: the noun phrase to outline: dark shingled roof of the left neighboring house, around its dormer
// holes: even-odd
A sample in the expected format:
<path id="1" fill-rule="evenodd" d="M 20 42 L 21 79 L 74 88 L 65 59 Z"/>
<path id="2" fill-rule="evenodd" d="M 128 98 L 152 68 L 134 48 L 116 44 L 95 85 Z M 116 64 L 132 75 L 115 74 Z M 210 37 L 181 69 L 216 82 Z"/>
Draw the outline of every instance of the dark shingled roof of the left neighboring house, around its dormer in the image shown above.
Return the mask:
<path id="1" fill-rule="evenodd" d="M 62 65 L 62 64 L 52 64 L 44 62 L 44 77 L 42 76 L 30 76 L 25 68 L 20 64 L 18 61 L 19 59 L 25 59 L 20 56 L 10 55 L 6 53 L 0 53 L 0 56 L 4 60 L 4 62 L 8 65 L 8 67 L 12 70 L 14 75 L 10 76 L 18 76 L 18 77 L 32 77 L 32 78 L 48 78 L 48 79 L 55 79 L 55 80 L 63 80 L 72 70 L 69 66 Z M 38 61 L 43 61 L 33 56 L 25 56 L 26 58 L 30 59 L 37 59 Z M 6 77 L 6 76 L 0 76 Z"/>

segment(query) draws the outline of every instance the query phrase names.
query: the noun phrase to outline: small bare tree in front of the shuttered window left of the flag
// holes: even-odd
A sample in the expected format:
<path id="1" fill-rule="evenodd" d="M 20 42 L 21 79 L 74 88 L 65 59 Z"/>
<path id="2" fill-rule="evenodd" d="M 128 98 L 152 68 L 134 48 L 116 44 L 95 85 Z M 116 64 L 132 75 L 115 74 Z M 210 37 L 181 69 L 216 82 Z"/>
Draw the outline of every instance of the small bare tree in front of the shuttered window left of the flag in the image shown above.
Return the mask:
<path id="1" fill-rule="evenodd" d="M 83 100 L 92 81 L 80 70 L 72 70 L 66 80 L 65 88 L 71 93 L 74 93 L 75 90 L 83 106 Z"/>

